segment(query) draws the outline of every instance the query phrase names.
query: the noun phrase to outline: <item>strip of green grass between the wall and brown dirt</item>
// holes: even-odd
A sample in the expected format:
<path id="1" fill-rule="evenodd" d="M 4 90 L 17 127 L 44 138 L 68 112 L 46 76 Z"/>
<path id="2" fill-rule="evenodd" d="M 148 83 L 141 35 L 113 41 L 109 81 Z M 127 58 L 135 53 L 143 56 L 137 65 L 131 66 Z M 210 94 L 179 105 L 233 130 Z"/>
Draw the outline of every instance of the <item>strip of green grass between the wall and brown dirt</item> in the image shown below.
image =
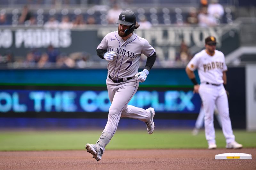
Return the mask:
<path id="1" fill-rule="evenodd" d="M 83 150 L 94 144 L 102 131 L 0 131 L 0 151 Z M 256 147 L 256 132 L 234 131 L 236 141 L 246 148 Z M 216 131 L 218 148 L 225 147 L 222 131 Z M 207 148 L 204 131 L 197 136 L 191 130 L 118 130 L 106 149 Z"/>

